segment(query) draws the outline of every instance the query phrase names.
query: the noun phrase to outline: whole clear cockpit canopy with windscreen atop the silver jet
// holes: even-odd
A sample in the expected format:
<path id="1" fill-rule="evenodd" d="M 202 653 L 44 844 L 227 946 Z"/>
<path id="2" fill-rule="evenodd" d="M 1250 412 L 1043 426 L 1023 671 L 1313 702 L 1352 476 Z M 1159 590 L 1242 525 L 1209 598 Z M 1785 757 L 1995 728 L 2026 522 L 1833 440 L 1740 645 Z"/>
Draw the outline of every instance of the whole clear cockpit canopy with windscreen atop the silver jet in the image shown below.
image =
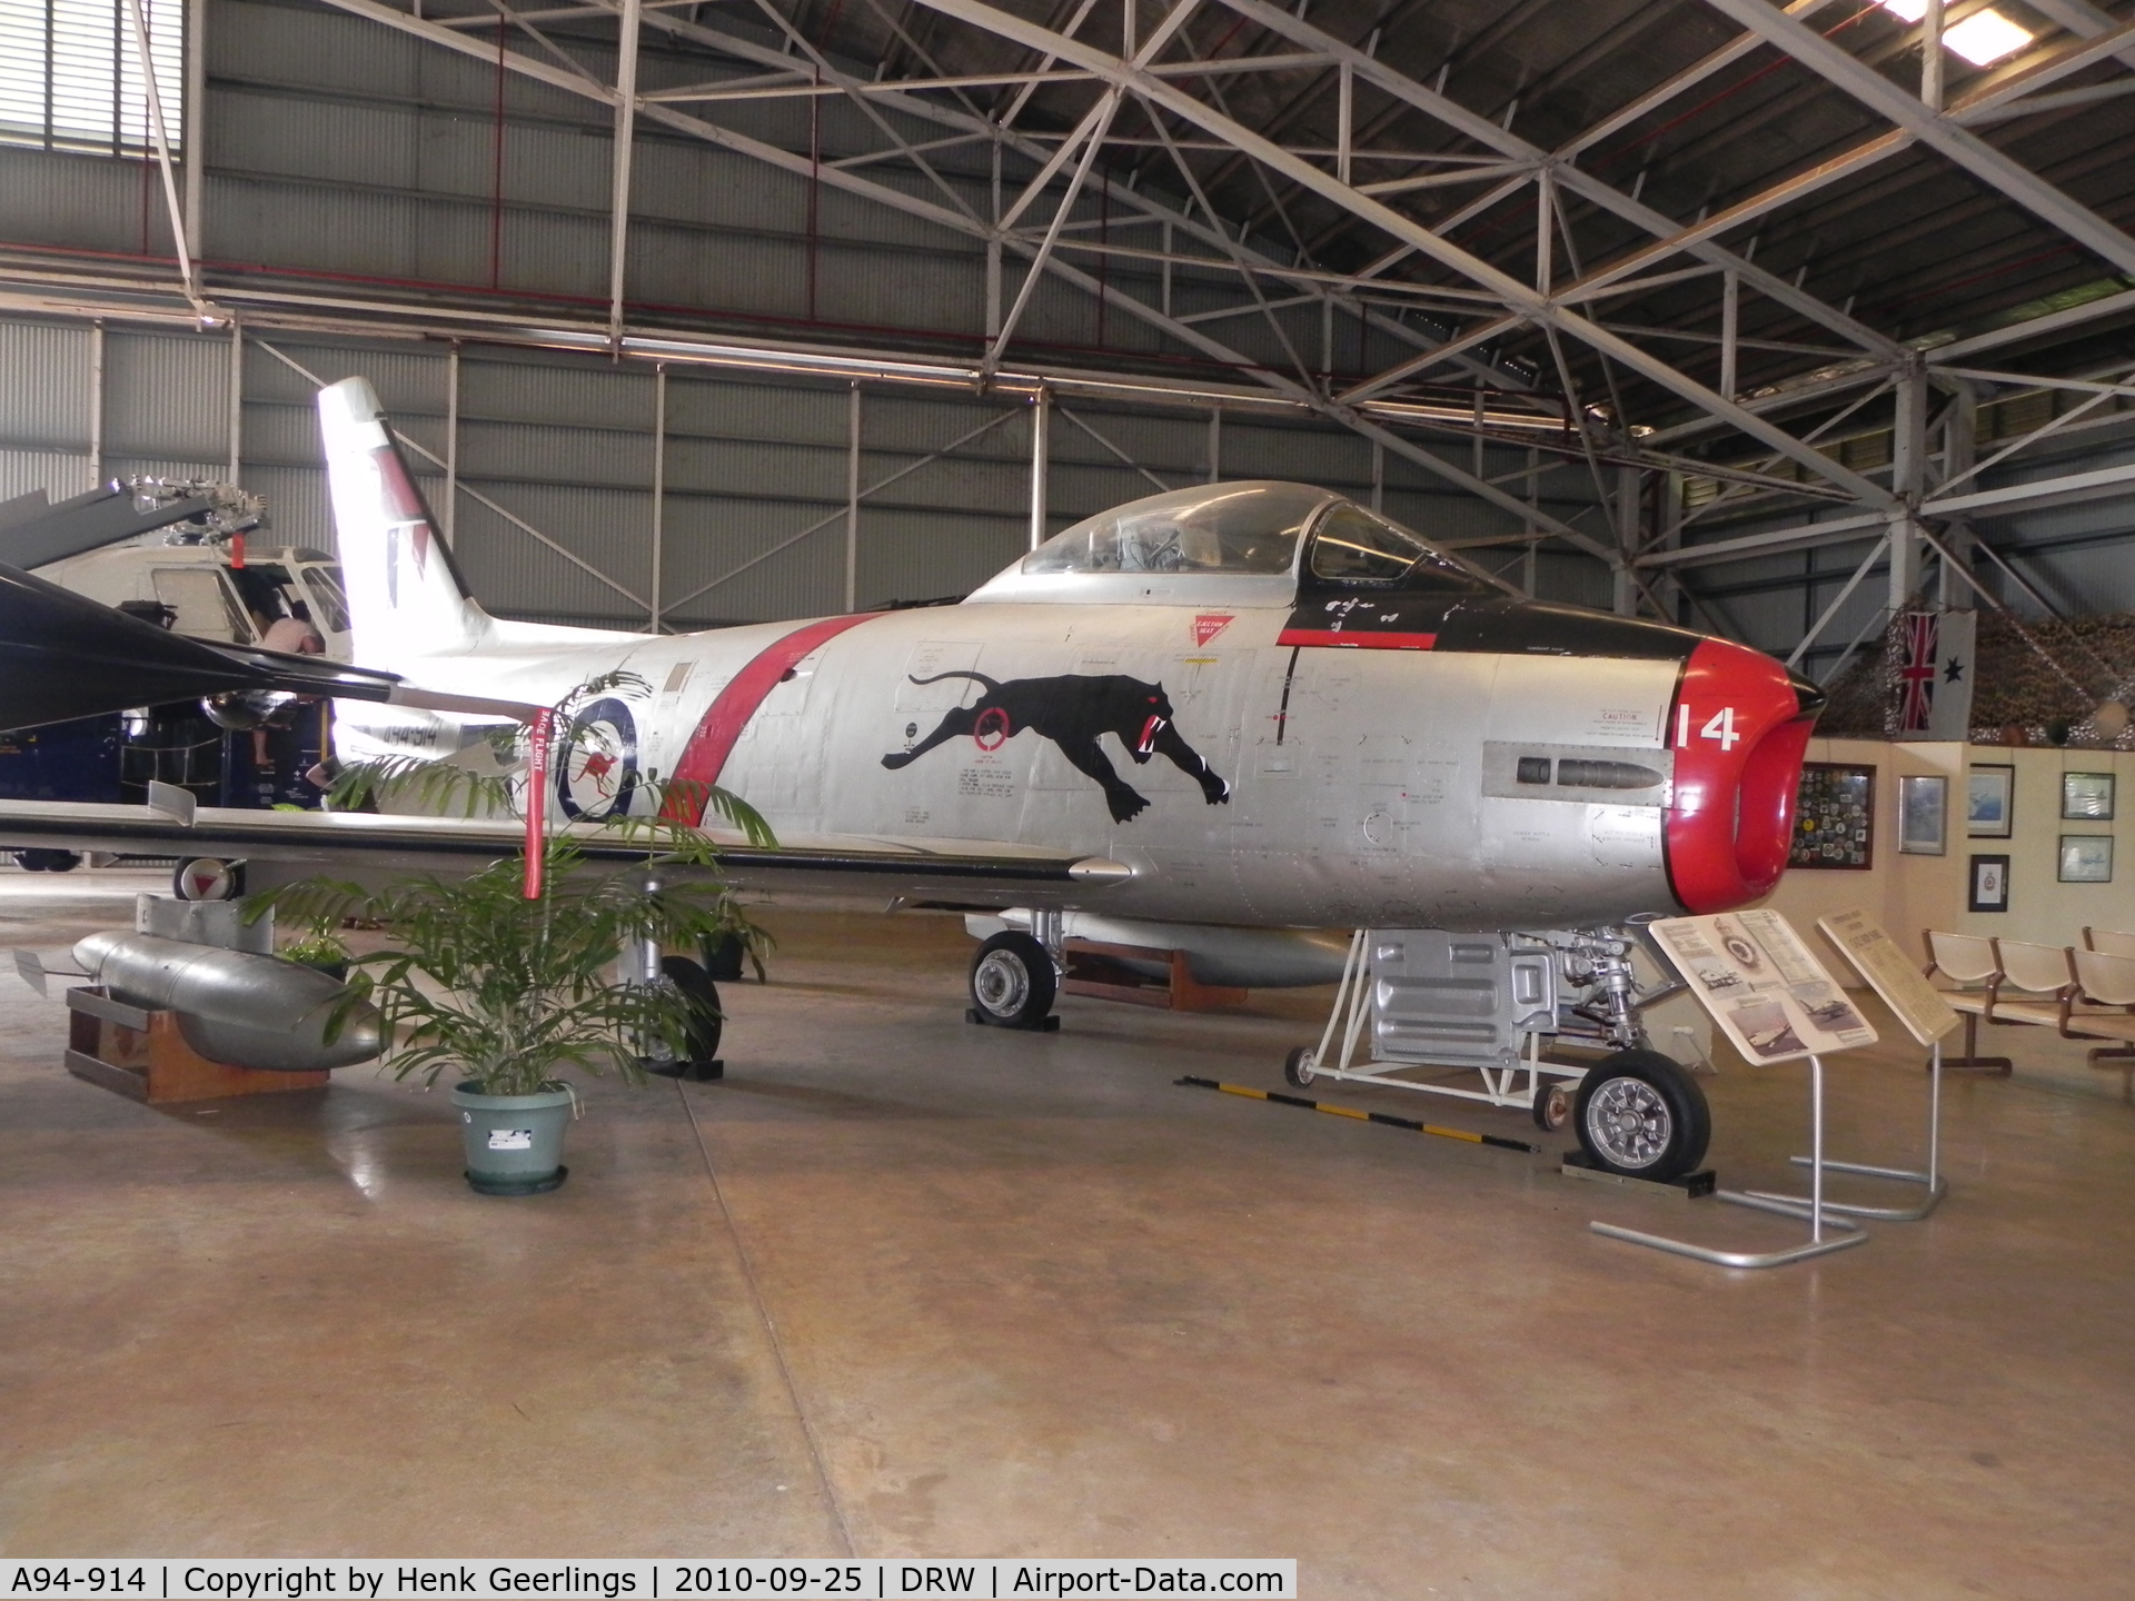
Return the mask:
<path id="1" fill-rule="evenodd" d="M 1196 485 L 1114 506 L 1055 534 L 976 598 L 1035 600 L 1048 578 L 1072 576 L 1102 589 L 1110 589 L 1104 578 L 1149 578 L 1153 598 L 1183 598 L 1208 578 L 1279 581 L 1285 593 L 1298 585 L 1494 593 L 1398 523 L 1326 489 L 1270 480 Z M 1166 583 L 1174 576 L 1187 585 Z"/>

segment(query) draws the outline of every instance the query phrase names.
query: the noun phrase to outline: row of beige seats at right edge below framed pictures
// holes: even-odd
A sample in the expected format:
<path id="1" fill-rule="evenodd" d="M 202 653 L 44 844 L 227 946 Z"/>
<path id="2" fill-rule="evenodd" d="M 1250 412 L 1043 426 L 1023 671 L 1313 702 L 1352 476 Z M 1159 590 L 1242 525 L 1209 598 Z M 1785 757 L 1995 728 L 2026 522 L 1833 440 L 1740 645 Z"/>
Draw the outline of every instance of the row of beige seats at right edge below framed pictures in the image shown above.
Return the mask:
<path id="1" fill-rule="evenodd" d="M 1979 1055 L 1979 1020 L 2028 1023 L 2065 1040 L 2122 1040 L 2090 1052 L 2094 1065 L 2135 1065 L 2135 935 L 2084 929 L 2084 944 L 1956 935 L 1928 929 L 1928 978 L 1945 978 L 1943 999 L 1964 1016 L 1964 1057 L 1947 1067 L 1998 1067 L 2007 1057 Z M 2039 999 L 2024 999 L 2039 997 Z"/>

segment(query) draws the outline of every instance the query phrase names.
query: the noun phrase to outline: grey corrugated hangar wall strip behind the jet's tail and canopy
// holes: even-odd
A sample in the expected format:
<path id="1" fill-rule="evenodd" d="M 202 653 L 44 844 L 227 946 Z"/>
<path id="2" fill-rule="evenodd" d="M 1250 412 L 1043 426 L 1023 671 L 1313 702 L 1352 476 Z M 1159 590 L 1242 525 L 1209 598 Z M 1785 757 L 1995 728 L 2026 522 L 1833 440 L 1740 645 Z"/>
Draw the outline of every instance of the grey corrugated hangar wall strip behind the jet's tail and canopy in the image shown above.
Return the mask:
<path id="1" fill-rule="evenodd" d="M 62 497 L 96 482 L 94 348 L 88 327 L 0 320 L 0 497 L 30 489 Z M 105 476 L 228 476 L 228 333 L 111 327 L 102 333 L 102 367 Z M 239 482 L 267 497 L 278 538 L 333 549 L 314 386 L 299 367 L 320 382 L 357 374 L 371 380 L 401 433 L 438 457 L 414 457 L 414 467 L 444 517 L 440 463 L 450 455 L 453 384 L 446 346 L 250 337 Z M 1027 401 L 863 386 L 858 414 L 858 604 L 965 593 L 1027 549 Z M 843 606 L 850 423 L 850 384 L 668 374 L 660 608 L 670 628 Z M 450 504 L 448 525 L 487 606 L 506 617 L 647 621 L 655 425 L 658 378 L 647 367 L 463 348 L 463 493 Z M 1302 478 L 1366 502 L 1373 495 L 1373 450 L 1354 433 L 1302 418 L 1225 414 L 1219 435 L 1225 476 Z M 1208 444 L 1206 412 L 1057 403 L 1050 527 L 1159 487 L 1202 482 Z M 1509 472 L 1518 461 L 1505 453 L 1486 465 Z M 1492 506 L 1445 493 L 1398 455 L 1379 463 L 1379 476 L 1386 510 L 1437 538 L 1518 527 Z M 1556 502 L 1550 508 L 1578 510 Z M 1580 559 L 1546 561 L 1541 589 L 1588 604 L 1608 600 L 1599 568 Z"/>

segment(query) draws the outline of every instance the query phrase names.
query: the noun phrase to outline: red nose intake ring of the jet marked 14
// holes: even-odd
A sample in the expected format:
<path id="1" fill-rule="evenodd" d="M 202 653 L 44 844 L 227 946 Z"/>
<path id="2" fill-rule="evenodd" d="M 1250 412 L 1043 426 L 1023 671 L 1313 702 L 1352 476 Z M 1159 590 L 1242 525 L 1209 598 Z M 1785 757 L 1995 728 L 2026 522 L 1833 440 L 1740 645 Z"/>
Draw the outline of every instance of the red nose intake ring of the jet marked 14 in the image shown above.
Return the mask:
<path id="1" fill-rule="evenodd" d="M 1815 711 L 1770 655 L 1714 638 L 1691 651 L 1667 809 L 1667 879 L 1685 909 L 1725 912 L 1778 884 L 1810 728 Z"/>

